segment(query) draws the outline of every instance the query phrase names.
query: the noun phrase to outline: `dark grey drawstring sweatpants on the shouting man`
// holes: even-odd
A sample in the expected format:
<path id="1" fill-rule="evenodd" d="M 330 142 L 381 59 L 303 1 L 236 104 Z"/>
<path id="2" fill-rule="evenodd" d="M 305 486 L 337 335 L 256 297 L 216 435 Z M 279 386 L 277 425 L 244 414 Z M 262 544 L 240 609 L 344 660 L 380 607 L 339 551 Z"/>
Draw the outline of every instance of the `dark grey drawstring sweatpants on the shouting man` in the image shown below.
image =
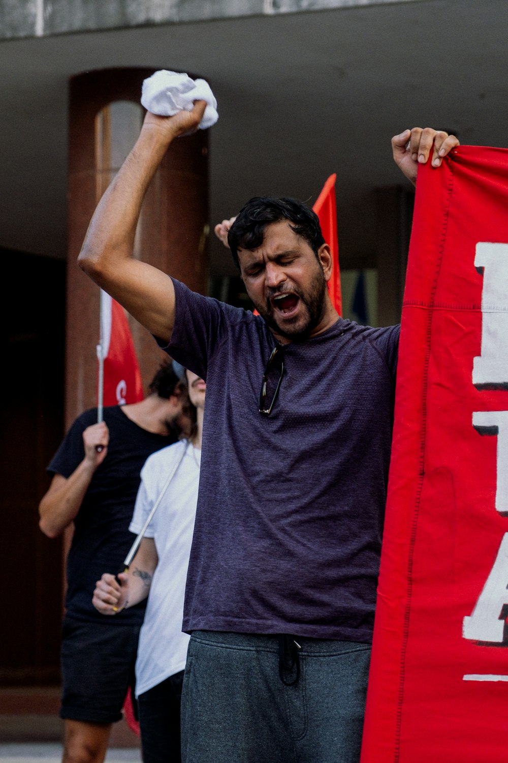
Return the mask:
<path id="1" fill-rule="evenodd" d="M 290 667 L 277 636 L 193 633 L 182 763 L 358 763 L 370 645 L 294 640 Z"/>

